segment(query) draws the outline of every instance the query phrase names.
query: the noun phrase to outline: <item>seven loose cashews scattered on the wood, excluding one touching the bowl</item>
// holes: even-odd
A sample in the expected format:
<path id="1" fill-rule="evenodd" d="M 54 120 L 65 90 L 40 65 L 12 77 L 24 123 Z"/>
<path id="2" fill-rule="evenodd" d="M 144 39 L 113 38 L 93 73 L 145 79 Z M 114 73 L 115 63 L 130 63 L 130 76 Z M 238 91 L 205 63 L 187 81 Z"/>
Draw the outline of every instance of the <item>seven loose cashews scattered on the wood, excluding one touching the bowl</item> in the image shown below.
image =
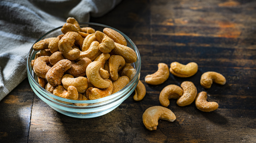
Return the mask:
<path id="1" fill-rule="evenodd" d="M 198 65 L 195 62 L 190 62 L 183 65 L 178 62 L 173 62 L 170 65 L 165 63 L 158 64 L 158 71 L 145 76 L 145 82 L 151 85 L 159 85 L 169 78 L 169 71 L 178 77 L 190 77 L 197 73 Z M 210 88 L 212 83 L 224 85 L 225 77 L 214 71 L 207 71 L 202 74 L 200 84 L 204 88 Z M 179 106 L 190 105 L 195 101 L 196 107 L 203 112 L 211 112 L 216 110 L 219 105 L 216 102 L 207 102 L 207 93 L 202 91 L 197 93 L 197 88 L 190 81 L 181 83 L 181 87 L 177 85 L 168 85 L 164 87 L 159 95 L 159 101 L 162 106 L 153 106 L 145 110 L 142 115 L 143 124 L 148 130 L 156 130 L 159 119 L 173 122 L 176 119 L 175 114 L 168 108 L 169 99 L 177 99 Z"/>

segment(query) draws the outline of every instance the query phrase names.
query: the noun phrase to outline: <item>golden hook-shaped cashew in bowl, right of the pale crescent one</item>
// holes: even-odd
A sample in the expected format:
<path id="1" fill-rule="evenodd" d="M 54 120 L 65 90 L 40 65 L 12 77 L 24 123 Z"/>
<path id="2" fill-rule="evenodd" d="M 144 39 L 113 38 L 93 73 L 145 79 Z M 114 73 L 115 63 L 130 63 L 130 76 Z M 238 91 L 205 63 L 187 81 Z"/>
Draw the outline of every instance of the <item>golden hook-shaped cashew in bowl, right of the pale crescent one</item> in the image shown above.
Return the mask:
<path id="1" fill-rule="evenodd" d="M 125 60 L 122 56 L 112 55 L 108 60 L 110 77 L 112 80 L 117 80 L 118 71 L 125 65 Z M 118 70 L 119 69 L 119 70 Z"/>

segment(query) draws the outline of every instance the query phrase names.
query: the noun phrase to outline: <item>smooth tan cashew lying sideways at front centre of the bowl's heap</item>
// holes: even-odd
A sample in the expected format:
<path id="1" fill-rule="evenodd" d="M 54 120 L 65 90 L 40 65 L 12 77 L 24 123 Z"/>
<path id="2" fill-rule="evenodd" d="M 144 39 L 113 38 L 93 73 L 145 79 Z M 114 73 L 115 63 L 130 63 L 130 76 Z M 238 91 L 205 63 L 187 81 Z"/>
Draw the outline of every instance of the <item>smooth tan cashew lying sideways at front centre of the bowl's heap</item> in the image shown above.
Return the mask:
<path id="1" fill-rule="evenodd" d="M 87 84 L 87 78 L 83 76 L 79 76 L 74 78 L 71 74 L 65 74 L 63 75 L 61 82 L 65 89 L 68 89 L 69 86 L 74 86 L 77 90 L 77 92 L 83 93 L 86 91 L 88 84 Z"/>

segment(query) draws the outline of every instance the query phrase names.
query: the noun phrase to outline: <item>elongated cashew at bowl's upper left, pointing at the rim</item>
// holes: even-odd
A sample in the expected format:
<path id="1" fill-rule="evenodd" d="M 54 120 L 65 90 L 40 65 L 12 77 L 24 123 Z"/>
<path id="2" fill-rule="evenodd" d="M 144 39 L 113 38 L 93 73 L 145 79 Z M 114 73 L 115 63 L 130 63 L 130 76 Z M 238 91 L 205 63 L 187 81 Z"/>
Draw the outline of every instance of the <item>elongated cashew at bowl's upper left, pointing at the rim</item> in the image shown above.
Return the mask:
<path id="1" fill-rule="evenodd" d="M 36 42 L 33 45 L 33 49 L 35 51 L 50 49 L 51 52 L 54 53 L 59 50 L 58 43 L 59 43 L 58 38 L 55 38 L 55 37 L 47 38 L 47 39 L 40 40 L 40 41 Z"/>

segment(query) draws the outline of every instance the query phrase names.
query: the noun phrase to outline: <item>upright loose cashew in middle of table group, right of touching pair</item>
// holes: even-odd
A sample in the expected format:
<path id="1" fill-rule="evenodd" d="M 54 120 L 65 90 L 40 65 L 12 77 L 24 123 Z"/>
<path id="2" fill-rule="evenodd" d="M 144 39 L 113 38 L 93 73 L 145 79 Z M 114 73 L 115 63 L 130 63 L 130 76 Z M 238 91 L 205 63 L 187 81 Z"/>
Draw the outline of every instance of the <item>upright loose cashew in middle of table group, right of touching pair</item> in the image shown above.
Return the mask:
<path id="1" fill-rule="evenodd" d="M 191 104 L 197 96 L 197 87 L 190 81 L 184 81 L 181 83 L 181 88 L 183 89 L 183 94 L 176 103 L 179 106 Z"/>

